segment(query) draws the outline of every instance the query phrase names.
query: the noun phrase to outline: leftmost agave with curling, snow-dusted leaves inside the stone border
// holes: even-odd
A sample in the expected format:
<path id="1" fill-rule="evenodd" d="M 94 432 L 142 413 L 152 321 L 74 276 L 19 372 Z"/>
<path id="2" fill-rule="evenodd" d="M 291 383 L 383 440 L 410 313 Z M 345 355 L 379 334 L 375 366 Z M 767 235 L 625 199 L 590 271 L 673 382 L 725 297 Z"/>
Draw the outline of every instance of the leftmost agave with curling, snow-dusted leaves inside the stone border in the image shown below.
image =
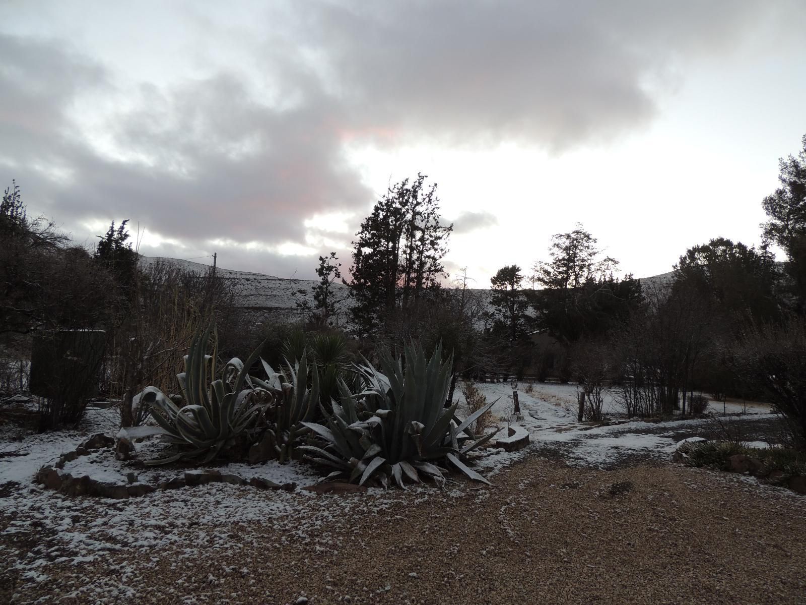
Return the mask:
<path id="1" fill-rule="evenodd" d="M 206 345 L 211 333 L 213 354 L 208 355 Z M 217 348 L 218 334 L 212 326 L 193 337 L 185 355 L 185 371 L 177 375 L 181 397 L 168 397 L 154 386 L 147 386 L 139 394 L 140 405 L 145 404 L 160 425 L 153 433 L 161 434 L 163 440 L 178 449 L 172 456 L 146 461 L 147 465 L 195 457 L 202 457 L 202 463 L 209 462 L 222 449 L 234 445 L 268 407 L 247 373 L 257 361 L 260 348 L 246 364 L 232 358 L 223 369 L 223 378 L 208 382 L 215 377 Z"/>

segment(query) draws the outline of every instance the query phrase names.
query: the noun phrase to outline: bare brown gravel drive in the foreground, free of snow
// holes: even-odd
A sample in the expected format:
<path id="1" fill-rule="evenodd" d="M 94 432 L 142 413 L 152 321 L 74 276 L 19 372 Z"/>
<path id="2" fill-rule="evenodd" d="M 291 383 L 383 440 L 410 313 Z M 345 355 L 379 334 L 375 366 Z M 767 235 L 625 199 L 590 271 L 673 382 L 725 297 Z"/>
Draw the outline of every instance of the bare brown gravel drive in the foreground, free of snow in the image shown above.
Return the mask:
<path id="1" fill-rule="evenodd" d="M 210 527 L 233 546 L 201 560 L 181 559 L 195 545 L 179 542 L 52 565 L 14 603 L 96 603 L 64 595 L 110 578 L 131 593 L 108 603 L 806 603 L 806 498 L 784 490 L 675 465 L 602 471 L 537 457 L 494 488 L 459 488 L 339 513 L 316 543 L 267 519 Z"/>

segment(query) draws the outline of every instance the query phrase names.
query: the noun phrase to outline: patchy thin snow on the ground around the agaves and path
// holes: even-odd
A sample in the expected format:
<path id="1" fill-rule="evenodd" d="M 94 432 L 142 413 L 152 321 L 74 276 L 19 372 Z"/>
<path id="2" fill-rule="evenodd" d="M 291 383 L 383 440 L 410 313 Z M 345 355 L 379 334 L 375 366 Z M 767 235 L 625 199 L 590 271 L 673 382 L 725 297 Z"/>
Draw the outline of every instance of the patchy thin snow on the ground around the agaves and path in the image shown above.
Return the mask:
<path id="1" fill-rule="evenodd" d="M 512 420 L 513 385 L 484 384 L 480 388 L 488 399 L 499 398 L 493 415 L 505 428 Z M 600 468 L 609 468 L 636 456 L 668 459 L 682 437 L 692 436 L 704 428 L 704 421 L 700 420 L 663 424 L 634 421 L 592 427 L 576 422 L 575 386 L 535 384 L 531 393 L 526 393 L 525 384 L 516 388 L 522 413 L 522 420 L 517 424 L 530 432 L 531 444 L 513 453 L 490 449 L 479 457 L 476 469 L 492 482 L 506 466 L 532 455 L 559 457 L 569 465 Z M 745 418 L 764 420 L 772 416 Z M 32 545 L 6 555 L 6 567 L 22 572 L 17 586 L 19 594 L 25 594 L 26 586 L 47 579 L 56 565 L 93 561 L 106 565 L 108 553 L 114 551 L 129 549 L 147 555 L 153 549 L 176 544 L 181 545 L 181 558 L 193 561 L 195 557 L 210 553 L 210 549 L 241 548 L 243 540 L 239 542 L 234 536 L 246 531 L 250 522 L 256 520 L 271 519 L 273 527 L 289 540 L 310 545 L 312 553 L 319 549 L 338 552 L 339 538 L 322 534 L 319 531 L 322 524 L 334 520 L 358 523 L 362 515 L 383 515 L 395 507 L 411 506 L 423 499 L 437 498 L 450 505 L 454 499 L 481 498 L 484 490 L 495 489 L 449 481 L 444 490 L 418 486 L 409 488 L 409 494 L 397 489 L 371 489 L 364 494 L 345 496 L 313 494 L 305 490 L 263 491 L 251 486 L 211 483 L 197 488 L 157 490 L 128 500 L 110 500 L 67 498 L 34 484 L 33 478 L 40 466 L 75 449 L 93 432 L 114 434 L 117 425 L 116 411 L 90 409 L 81 428 L 75 432 L 23 436 L 9 425 L 0 430 L 0 453 L 15 453 L 0 457 L 0 535 L 13 540 L 14 544 Z M 299 463 L 252 467 L 237 464 L 219 469 L 278 483 L 297 482 L 300 486 L 310 485 L 318 478 L 310 467 Z M 85 473 L 126 482 L 126 474 L 132 468 L 114 461 L 107 453 L 79 457 L 65 465 L 65 470 L 71 474 Z M 160 474 L 168 478 L 177 471 L 138 469 L 136 474 L 141 482 L 154 482 L 161 478 Z M 177 561 L 177 565 L 183 564 L 184 561 Z M 127 563 L 110 567 L 103 582 L 76 586 L 73 597 L 87 603 L 120 603 L 133 599 L 135 590 L 131 588 L 131 578 L 136 577 L 135 571 Z"/>

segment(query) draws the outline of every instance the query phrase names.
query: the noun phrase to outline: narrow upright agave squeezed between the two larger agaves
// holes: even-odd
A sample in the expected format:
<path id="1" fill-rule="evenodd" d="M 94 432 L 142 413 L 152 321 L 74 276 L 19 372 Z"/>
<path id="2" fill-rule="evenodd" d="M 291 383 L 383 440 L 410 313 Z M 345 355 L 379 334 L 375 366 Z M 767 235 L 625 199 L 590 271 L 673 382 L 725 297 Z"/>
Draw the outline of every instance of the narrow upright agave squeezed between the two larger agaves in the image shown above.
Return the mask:
<path id="1" fill-rule="evenodd" d="M 295 457 L 295 447 L 302 436 L 309 432 L 304 424 L 314 418 L 319 402 L 319 373 L 314 362 L 309 389 L 308 356 L 304 349 L 294 365 L 285 361 L 283 373 L 276 373 L 265 361 L 263 366 L 268 381 L 252 378 L 260 389 L 272 394 L 274 401 L 274 418 L 263 439 L 268 440 L 275 457 L 282 464 Z"/>

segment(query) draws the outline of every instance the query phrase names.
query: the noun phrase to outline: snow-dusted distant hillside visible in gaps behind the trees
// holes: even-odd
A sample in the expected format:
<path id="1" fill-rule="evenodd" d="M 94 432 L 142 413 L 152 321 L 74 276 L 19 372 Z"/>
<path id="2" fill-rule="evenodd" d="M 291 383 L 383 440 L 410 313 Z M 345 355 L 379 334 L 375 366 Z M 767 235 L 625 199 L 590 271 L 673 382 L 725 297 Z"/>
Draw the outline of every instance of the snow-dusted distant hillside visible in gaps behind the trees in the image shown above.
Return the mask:
<path id="1" fill-rule="evenodd" d="M 203 275 L 210 269 L 210 265 L 203 265 L 193 261 L 182 261 L 177 258 L 168 257 L 140 257 L 140 265 L 147 266 L 156 263 L 164 263 L 172 267 L 177 267 L 190 273 Z M 223 277 L 230 282 L 235 291 L 235 302 L 238 307 L 248 312 L 251 321 L 260 323 L 266 319 L 280 319 L 295 321 L 301 319 L 302 314 L 297 310 L 297 300 L 307 299 L 313 304 L 311 288 L 318 282 L 313 279 L 285 279 L 284 277 L 274 277 L 264 273 L 250 273 L 248 271 L 235 271 L 233 269 L 216 269 L 219 277 Z M 664 290 L 671 286 L 674 280 L 674 271 L 642 277 L 641 283 L 645 289 Z M 336 295 L 347 298 L 347 286 L 341 283 L 333 285 Z M 299 292 L 299 290 L 302 290 Z M 296 297 L 295 298 L 295 294 Z M 492 290 L 484 288 L 472 288 L 467 290 L 467 294 L 480 298 L 481 302 L 492 311 Z M 347 322 L 347 307 L 342 313 L 340 323 Z"/>

